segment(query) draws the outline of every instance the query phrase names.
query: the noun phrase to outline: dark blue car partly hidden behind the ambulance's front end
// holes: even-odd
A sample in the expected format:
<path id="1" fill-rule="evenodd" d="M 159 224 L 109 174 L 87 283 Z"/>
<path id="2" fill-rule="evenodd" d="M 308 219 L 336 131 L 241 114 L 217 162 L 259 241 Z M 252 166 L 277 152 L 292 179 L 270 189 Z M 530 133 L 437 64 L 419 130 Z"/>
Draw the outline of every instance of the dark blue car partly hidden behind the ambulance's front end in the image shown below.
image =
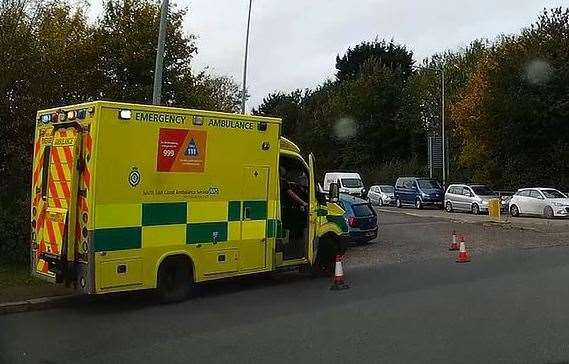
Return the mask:
<path id="1" fill-rule="evenodd" d="M 369 202 L 345 193 L 340 194 L 339 202 L 346 211 L 344 217 L 351 241 L 366 243 L 377 237 L 377 214 Z"/>

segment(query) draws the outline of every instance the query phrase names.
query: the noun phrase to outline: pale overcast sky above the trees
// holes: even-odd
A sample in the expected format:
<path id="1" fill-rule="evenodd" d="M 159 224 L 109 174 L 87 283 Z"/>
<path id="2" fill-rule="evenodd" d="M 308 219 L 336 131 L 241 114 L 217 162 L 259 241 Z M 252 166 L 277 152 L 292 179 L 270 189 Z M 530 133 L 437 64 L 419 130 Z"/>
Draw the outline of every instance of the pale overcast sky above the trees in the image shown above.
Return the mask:
<path id="1" fill-rule="evenodd" d="M 98 11 L 95 0 L 92 11 Z M 193 68 L 242 84 L 249 0 L 171 0 L 187 7 L 198 38 Z M 253 0 L 247 109 L 269 92 L 313 88 L 334 76 L 336 55 L 362 41 L 393 39 L 415 60 L 472 40 L 517 33 L 544 8 L 569 0 Z"/>

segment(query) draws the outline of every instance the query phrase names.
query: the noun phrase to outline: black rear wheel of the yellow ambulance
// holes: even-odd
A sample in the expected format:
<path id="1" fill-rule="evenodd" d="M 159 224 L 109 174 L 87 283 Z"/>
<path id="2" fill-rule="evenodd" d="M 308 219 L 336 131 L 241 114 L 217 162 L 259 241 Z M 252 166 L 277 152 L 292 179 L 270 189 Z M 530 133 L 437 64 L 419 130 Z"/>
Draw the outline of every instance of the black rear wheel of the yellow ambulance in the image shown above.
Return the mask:
<path id="1" fill-rule="evenodd" d="M 192 290 L 192 265 L 186 256 L 167 257 L 158 269 L 160 302 L 174 303 L 188 298 Z"/>

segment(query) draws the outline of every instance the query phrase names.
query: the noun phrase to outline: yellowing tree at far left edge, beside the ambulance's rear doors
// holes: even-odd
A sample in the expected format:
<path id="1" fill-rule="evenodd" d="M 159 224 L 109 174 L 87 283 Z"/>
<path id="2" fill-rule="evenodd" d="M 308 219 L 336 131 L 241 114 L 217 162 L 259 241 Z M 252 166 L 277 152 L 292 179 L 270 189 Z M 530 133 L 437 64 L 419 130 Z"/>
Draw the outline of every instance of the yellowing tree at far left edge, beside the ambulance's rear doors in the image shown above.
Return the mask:
<path id="1" fill-rule="evenodd" d="M 0 5 L 0 256 L 27 254 L 35 112 L 84 100 L 96 57 L 82 8 L 2 0 Z M 62 72 L 62 70 L 65 70 Z"/>

